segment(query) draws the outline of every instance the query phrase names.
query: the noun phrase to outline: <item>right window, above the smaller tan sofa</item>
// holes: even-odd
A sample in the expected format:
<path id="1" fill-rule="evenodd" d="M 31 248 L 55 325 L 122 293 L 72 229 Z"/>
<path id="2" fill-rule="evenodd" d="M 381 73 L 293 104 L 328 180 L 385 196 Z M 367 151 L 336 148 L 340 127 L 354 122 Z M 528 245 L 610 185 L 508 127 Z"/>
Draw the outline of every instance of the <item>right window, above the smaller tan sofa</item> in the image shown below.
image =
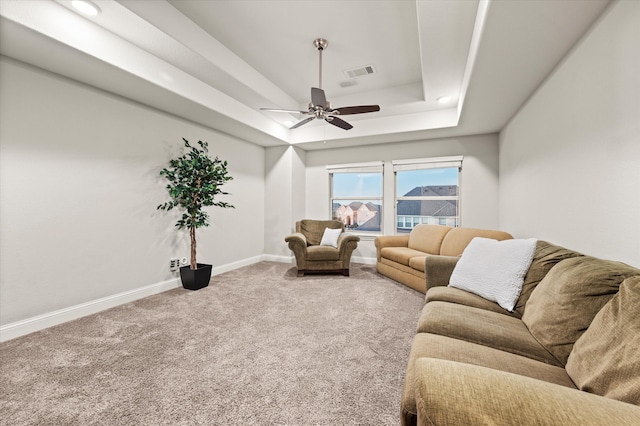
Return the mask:
<path id="1" fill-rule="evenodd" d="M 396 176 L 396 233 L 418 224 L 460 225 L 462 157 L 393 162 Z"/>

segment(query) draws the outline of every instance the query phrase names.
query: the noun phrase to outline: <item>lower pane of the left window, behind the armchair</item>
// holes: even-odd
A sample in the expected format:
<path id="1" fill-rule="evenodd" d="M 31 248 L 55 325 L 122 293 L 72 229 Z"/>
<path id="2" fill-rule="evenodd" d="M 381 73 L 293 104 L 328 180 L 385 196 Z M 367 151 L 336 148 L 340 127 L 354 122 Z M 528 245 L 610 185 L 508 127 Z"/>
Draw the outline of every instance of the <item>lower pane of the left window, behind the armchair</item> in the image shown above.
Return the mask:
<path id="1" fill-rule="evenodd" d="M 382 206 L 380 200 L 333 200 L 332 216 L 351 230 L 380 232 Z"/>

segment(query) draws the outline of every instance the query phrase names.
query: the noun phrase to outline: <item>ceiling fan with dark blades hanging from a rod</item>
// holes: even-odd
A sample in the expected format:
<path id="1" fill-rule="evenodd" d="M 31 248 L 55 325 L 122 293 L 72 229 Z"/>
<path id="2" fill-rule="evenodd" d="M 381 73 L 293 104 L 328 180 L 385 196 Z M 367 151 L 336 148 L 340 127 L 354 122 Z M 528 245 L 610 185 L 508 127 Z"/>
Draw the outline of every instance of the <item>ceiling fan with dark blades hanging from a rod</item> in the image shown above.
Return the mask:
<path id="1" fill-rule="evenodd" d="M 319 61 L 319 84 L 318 87 L 311 88 L 311 102 L 309 103 L 309 109 L 306 111 L 292 110 L 292 109 L 273 109 L 273 108 L 260 108 L 261 111 L 274 111 L 274 112 L 287 112 L 290 114 L 305 114 L 310 117 L 305 118 L 302 121 L 297 122 L 290 129 L 296 129 L 308 122 L 315 120 L 325 120 L 329 124 L 340 127 L 344 130 L 349 130 L 353 126 L 346 121 L 338 118 L 338 115 L 350 115 L 350 114 L 364 114 L 366 112 L 380 111 L 379 105 L 360 105 L 360 106 L 348 106 L 341 108 L 332 108 L 331 104 L 327 101 L 327 98 L 322 90 L 322 51 L 327 48 L 329 42 L 323 38 L 317 38 L 313 41 L 313 45 L 318 49 L 320 55 Z"/>

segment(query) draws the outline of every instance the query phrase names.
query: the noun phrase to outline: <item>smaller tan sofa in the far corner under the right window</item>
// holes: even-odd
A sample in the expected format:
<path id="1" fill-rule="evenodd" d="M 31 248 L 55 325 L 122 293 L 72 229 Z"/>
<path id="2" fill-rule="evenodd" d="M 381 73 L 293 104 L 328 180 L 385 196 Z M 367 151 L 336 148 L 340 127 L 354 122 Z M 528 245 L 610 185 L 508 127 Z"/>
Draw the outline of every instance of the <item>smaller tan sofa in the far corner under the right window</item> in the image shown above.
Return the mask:
<path id="1" fill-rule="evenodd" d="M 385 235 L 375 239 L 376 269 L 382 275 L 418 290 L 425 288 L 425 259 L 428 255 L 460 256 L 474 237 L 506 240 L 502 231 L 417 225 L 407 235 Z"/>

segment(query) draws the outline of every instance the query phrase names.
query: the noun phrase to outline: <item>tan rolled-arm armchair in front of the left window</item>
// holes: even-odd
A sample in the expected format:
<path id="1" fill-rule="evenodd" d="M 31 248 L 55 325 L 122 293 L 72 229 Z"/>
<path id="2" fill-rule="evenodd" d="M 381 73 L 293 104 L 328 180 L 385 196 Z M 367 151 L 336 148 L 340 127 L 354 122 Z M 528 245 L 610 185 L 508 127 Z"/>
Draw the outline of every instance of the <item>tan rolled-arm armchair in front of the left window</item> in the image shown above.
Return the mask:
<path id="1" fill-rule="evenodd" d="M 325 228 L 344 231 L 344 224 L 339 220 L 304 219 L 296 222 L 295 234 L 285 237 L 284 240 L 296 256 L 299 277 L 309 272 L 341 272 L 349 276 L 351 254 L 358 246 L 360 237 L 342 232 L 337 248 L 321 246 Z"/>

